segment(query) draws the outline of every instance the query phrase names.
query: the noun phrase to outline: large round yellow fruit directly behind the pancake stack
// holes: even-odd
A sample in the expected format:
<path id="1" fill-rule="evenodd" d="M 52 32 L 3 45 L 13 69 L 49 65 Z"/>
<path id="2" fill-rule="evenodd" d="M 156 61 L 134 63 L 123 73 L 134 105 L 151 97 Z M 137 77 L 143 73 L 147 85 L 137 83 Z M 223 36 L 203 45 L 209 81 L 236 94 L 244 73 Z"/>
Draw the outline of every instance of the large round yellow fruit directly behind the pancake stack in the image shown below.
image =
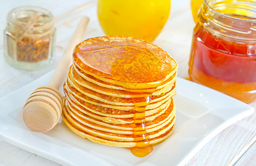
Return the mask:
<path id="1" fill-rule="evenodd" d="M 168 20 L 170 8 L 170 0 L 99 0 L 97 14 L 106 35 L 152 42 Z"/>

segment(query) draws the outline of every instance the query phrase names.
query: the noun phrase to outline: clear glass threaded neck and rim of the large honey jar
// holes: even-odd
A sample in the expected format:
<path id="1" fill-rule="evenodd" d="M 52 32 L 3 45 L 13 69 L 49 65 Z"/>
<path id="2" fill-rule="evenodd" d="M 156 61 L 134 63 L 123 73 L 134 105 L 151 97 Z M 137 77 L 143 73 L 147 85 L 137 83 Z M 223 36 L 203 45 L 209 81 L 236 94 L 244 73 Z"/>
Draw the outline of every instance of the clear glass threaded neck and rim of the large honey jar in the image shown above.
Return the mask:
<path id="1" fill-rule="evenodd" d="M 199 11 L 199 23 L 218 38 L 256 43 L 255 7 L 252 2 L 244 0 L 204 0 Z"/>

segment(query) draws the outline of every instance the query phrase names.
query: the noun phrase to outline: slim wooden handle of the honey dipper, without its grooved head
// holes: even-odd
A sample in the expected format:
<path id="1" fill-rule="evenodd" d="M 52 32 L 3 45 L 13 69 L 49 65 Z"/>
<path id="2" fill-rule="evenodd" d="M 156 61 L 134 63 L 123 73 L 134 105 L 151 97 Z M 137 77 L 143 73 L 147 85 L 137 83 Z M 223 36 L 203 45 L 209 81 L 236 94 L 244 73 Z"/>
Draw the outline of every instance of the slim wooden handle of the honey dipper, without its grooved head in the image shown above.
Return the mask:
<path id="1" fill-rule="evenodd" d="M 67 74 L 68 67 L 71 64 L 72 61 L 72 53 L 75 46 L 81 42 L 82 36 L 85 33 L 85 29 L 88 24 L 88 17 L 82 17 L 80 22 L 78 23 L 75 32 L 73 33 L 73 36 L 70 40 L 70 42 L 67 45 L 67 48 L 62 55 L 62 58 L 60 62 L 58 63 L 57 68 L 55 69 L 55 72 L 52 75 L 52 78 L 48 84 L 48 86 L 55 87 L 56 89 L 59 89 L 63 79 L 65 78 Z"/>

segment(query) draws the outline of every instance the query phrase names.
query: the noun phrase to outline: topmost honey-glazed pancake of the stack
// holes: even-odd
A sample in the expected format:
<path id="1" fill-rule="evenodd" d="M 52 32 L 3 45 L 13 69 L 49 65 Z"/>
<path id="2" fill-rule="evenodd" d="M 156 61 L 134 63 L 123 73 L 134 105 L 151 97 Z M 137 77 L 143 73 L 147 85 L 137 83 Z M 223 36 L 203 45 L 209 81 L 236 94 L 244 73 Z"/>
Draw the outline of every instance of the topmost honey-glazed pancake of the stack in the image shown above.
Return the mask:
<path id="1" fill-rule="evenodd" d="M 129 37 L 97 37 L 78 44 L 73 63 L 88 75 L 127 89 L 156 88 L 178 65 L 158 46 Z"/>

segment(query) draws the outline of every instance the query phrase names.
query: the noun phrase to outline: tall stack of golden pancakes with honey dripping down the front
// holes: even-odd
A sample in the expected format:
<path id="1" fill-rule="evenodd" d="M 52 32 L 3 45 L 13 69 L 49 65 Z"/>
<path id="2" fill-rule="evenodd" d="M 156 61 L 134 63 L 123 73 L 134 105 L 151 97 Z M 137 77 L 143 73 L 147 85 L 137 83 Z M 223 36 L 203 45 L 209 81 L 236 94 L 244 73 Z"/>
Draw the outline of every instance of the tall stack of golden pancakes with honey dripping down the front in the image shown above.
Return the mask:
<path id="1" fill-rule="evenodd" d="M 83 138 L 144 157 L 174 131 L 177 69 L 166 51 L 144 40 L 87 39 L 73 52 L 62 118 Z"/>

